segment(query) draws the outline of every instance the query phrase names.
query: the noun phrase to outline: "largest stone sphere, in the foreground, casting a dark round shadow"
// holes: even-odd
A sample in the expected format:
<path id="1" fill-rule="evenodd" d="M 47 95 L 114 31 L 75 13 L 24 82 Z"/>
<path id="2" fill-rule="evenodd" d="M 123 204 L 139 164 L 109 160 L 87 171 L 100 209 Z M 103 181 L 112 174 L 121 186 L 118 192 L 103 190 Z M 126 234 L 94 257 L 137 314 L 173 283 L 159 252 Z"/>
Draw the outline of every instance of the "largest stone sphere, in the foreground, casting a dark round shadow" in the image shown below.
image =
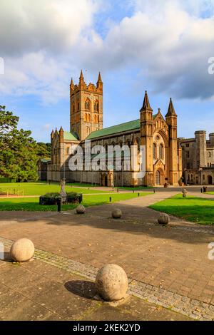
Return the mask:
<path id="1" fill-rule="evenodd" d="M 118 301 L 126 297 L 128 277 L 116 264 L 106 264 L 96 276 L 96 290 L 106 301 Z"/>

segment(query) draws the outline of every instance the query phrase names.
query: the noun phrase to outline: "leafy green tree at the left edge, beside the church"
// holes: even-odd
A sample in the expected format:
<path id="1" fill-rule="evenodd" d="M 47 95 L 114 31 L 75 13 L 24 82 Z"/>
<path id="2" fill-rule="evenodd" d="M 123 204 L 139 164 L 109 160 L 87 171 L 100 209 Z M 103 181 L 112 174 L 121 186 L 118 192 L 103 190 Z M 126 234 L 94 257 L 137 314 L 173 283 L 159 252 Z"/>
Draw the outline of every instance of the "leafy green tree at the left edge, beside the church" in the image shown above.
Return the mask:
<path id="1" fill-rule="evenodd" d="M 37 144 L 30 130 L 19 130 L 19 117 L 0 105 L 0 175 L 37 180 Z"/>

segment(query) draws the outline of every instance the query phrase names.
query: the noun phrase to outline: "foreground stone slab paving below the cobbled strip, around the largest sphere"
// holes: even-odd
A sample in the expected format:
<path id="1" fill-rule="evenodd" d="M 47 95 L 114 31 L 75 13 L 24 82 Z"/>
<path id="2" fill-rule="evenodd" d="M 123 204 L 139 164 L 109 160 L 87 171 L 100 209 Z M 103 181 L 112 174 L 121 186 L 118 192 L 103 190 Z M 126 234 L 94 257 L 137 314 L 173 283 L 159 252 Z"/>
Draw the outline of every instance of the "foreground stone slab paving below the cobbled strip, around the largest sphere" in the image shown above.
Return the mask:
<path id="1" fill-rule="evenodd" d="M 93 282 L 41 260 L 19 265 L 0 261 L 0 268 L 9 279 L 5 282 L 0 276 L 0 320 L 191 320 L 136 297 L 116 307 L 97 301 Z M 23 283 L 26 274 L 32 280 Z M 37 282 L 39 276 L 42 280 Z"/>

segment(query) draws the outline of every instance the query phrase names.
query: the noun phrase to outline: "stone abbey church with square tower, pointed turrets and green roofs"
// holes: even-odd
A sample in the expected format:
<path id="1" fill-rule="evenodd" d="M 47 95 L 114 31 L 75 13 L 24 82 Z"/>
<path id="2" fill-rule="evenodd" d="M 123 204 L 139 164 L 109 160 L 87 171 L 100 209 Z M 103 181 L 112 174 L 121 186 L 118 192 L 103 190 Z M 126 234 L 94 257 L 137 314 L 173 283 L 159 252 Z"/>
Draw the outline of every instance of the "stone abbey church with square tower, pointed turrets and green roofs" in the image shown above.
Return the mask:
<path id="1" fill-rule="evenodd" d="M 86 140 L 94 145 L 140 145 L 146 146 L 146 175 L 136 177 L 136 170 L 116 171 L 71 171 L 68 161 L 71 158 L 71 145 L 81 145 Z M 139 150 L 136 151 L 139 155 Z M 87 85 L 81 76 L 78 84 L 70 85 L 70 131 L 53 130 L 51 133 L 51 162 L 48 163 L 47 180 L 67 182 L 93 182 L 103 186 L 154 186 L 178 185 L 182 176 L 182 149 L 177 137 L 177 115 L 170 99 L 165 118 L 158 109 L 153 113 L 148 94 L 145 93 L 138 120 L 103 128 L 103 82 L 98 75 L 96 85 Z"/>

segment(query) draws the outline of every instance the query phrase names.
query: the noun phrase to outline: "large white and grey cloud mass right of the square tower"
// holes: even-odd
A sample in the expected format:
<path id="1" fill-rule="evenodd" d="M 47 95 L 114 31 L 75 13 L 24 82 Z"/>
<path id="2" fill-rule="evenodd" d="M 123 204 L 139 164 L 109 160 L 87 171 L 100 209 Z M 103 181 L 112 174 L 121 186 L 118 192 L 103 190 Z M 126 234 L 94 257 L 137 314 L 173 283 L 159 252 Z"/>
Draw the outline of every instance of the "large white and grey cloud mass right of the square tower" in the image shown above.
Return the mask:
<path id="1" fill-rule="evenodd" d="M 198 1 L 196 12 L 210 13 L 202 18 L 187 10 L 192 1 L 134 2 L 133 16 L 114 25 L 102 43 L 82 44 L 83 62 L 96 68 L 99 59 L 106 71 L 135 65 L 158 93 L 211 98 L 214 77 L 208 76 L 208 58 L 214 53 L 214 6 Z M 88 53 L 83 52 L 86 45 Z"/>

